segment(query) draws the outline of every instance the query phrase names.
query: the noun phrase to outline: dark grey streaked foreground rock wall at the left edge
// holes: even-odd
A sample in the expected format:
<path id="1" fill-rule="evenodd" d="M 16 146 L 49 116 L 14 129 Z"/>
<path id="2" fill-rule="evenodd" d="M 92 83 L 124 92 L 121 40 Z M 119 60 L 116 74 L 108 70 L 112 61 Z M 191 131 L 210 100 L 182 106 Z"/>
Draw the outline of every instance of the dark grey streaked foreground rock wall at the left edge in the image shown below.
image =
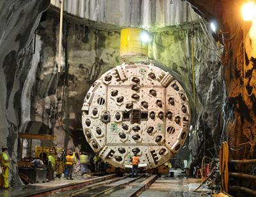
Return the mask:
<path id="1" fill-rule="evenodd" d="M 0 1 L 0 146 L 7 145 L 13 161 L 10 166 L 12 186 L 17 176 L 17 133 L 22 121 L 20 97 L 32 69 L 33 47 L 29 45 L 50 1 Z M 36 64 L 35 64 L 36 66 Z M 26 97 L 26 96 L 25 96 Z"/>

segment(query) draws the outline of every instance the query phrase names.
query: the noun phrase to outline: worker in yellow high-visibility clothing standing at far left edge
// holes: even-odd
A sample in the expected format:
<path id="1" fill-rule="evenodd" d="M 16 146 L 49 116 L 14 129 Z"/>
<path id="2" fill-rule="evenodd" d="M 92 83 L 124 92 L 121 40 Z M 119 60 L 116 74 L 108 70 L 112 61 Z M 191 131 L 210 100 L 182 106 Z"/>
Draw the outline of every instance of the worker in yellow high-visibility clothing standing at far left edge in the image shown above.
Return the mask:
<path id="1" fill-rule="evenodd" d="M 2 147 L 2 153 L 0 154 L 0 163 L 2 173 L 0 176 L 0 187 L 3 189 L 10 189 L 9 186 L 9 168 L 10 168 L 10 157 L 7 153 L 8 148 Z"/>

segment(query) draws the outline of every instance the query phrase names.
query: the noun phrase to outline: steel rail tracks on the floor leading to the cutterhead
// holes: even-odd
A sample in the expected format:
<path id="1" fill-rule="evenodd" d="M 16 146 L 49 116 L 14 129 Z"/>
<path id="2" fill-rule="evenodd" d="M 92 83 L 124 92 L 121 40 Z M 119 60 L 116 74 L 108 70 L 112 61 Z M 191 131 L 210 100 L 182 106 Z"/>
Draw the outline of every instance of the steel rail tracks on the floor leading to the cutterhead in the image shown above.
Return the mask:
<path id="1" fill-rule="evenodd" d="M 128 175 L 116 177 L 107 175 L 86 180 L 83 183 L 63 186 L 58 189 L 44 191 L 31 196 L 54 196 L 54 197 L 86 197 L 86 196 L 138 196 L 145 191 L 157 179 L 157 175 L 150 177 L 131 178 Z"/>

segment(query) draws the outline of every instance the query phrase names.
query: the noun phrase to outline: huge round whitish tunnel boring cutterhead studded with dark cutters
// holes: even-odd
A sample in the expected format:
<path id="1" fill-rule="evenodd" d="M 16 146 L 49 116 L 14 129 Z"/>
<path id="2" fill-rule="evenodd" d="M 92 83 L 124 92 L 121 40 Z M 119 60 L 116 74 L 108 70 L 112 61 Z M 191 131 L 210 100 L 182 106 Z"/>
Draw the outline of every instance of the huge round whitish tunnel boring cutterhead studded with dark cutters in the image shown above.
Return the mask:
<path id="1" fill-rule="evenodd" d="M 165 163 L 184 144 L 190 108 L 184 89 L 152 64 L 122 64 L 86 94 L 83 130 L 102 160 L 125 168 L 137 154 L 145 169 Z"/>

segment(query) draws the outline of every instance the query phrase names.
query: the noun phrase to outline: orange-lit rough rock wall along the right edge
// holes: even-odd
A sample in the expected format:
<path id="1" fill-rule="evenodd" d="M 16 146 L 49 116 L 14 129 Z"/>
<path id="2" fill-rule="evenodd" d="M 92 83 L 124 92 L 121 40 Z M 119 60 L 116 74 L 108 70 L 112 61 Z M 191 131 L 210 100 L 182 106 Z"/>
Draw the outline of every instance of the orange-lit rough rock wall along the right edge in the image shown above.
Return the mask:
<path id="1" fill-rule="evenodd" d="M 244 1 L 211 1 L 211 6 L 209 6 L 209 1 L 205 0 L 191 0 L 190 2 L 195 6 L 195 10 L 205 18 L 216 18 L 221 31 L 225 32 L 224 40 L 220 40 L 225 43 L 223 65 L 227 87 L 227 104 L 223 110 L 227 129 L 222 140 L 228 141 L 230 158 L 255 159 L 256 20 L 243 22 L 239 12 Z M 243 29 L 245 42 L 243 41 Z M 255 175 L 255 166 L 248 165 L 246 168 L 236 166 L 236 171 Z M 251 189 L 256 187 L 255 182 L 239 180 L 236 180 L 234 184 Z M 237 193 L 236 195 L 243 196 L 244 194 Z"/>

